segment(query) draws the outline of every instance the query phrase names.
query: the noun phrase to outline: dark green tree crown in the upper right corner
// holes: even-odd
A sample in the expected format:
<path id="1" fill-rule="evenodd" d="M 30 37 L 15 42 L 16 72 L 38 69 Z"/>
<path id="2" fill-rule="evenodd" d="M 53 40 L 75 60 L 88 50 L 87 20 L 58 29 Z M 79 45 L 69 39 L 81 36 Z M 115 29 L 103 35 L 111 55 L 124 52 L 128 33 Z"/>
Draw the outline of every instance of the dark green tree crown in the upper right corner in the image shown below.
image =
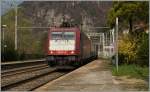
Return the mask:
<path id="1" fill-rule="evenodd" d="M 107 23 L 113 27 L 115 18 L 119 17 L 119 22 L 128 24 L 129 32 L 133 31 L 133 24 L 138 21 L 143 21 L 148 24 L 149 18 L 149 2 L 148 1 L 122 1 L 114 2 L 113 7 L 108 13 Z"/>

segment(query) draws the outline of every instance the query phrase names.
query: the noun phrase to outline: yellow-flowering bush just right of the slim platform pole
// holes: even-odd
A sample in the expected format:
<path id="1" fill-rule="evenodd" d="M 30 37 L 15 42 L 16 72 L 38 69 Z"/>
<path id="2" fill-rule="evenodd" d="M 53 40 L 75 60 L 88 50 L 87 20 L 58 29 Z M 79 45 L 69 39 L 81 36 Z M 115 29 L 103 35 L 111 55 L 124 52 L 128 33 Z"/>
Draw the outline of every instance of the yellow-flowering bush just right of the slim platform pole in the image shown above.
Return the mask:
<path id="1" fill-rule="evenodd" d="M 129 35 L 122 36 L 118 42 L 119 62 L 120 63 L 135 63 L 136 62 L 136 41 L 131 39 Z"/>

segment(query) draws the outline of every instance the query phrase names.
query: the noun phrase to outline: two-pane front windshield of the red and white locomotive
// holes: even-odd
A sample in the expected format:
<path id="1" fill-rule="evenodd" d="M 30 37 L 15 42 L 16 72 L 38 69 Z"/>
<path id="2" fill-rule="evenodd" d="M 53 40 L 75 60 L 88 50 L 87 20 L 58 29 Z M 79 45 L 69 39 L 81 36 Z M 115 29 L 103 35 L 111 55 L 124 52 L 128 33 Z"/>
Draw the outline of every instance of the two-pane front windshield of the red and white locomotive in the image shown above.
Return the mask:
<path id="1" fill-rule="evenodd" d="M 74 40 L 75 32 L 52 32 L 52 40 Z"/>

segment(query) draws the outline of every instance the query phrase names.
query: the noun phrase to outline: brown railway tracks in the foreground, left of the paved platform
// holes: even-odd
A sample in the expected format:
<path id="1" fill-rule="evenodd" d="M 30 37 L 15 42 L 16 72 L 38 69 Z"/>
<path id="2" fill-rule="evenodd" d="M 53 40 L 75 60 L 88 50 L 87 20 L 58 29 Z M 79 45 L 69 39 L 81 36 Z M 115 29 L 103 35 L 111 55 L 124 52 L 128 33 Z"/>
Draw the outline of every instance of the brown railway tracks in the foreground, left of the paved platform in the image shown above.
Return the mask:
<path id="1" fill-rule="evenodd" d="M 58 70 L 47 65 L 37 65 L 2 72 L 2 91 L 31 91 L 71 70 Z"/>

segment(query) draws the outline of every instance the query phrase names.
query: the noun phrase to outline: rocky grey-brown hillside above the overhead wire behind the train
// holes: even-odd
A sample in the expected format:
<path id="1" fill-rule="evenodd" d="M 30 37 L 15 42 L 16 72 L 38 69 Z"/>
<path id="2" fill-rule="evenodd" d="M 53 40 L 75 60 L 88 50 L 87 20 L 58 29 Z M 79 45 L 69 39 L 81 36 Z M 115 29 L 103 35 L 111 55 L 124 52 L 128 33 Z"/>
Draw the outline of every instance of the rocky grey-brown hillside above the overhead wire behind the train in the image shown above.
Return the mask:
<path id="1" fill-rule="evenodd" d="M 20 6 L 34 26 L 52 26 L 54 22 L 59 25 L 63 16 L 76 24 L 105 26 L 111 2 L 24 1 Z"/>

